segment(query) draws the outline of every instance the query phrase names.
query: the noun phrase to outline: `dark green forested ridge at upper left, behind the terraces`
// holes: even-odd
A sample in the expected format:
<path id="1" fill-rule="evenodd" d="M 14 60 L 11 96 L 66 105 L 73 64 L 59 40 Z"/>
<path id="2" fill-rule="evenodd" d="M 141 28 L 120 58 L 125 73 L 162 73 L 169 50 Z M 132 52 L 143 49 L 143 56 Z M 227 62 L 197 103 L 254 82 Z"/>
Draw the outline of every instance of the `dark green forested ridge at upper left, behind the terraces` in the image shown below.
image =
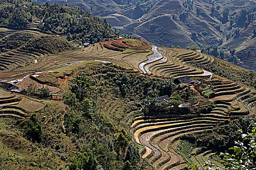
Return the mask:
<path id="1" fill-rule="evenodd" d="M 0 6 L 0 24 L 10 29 L 30 27 L 54 34 L 65 34 L 69 41 L 91 44 L 119 35 L 119 32 L 113 30 L 106 20 L 91 17 L 89 13 L 79 8 L 48 3 L 41 5 L 30 0 L 10 3 Z"/>

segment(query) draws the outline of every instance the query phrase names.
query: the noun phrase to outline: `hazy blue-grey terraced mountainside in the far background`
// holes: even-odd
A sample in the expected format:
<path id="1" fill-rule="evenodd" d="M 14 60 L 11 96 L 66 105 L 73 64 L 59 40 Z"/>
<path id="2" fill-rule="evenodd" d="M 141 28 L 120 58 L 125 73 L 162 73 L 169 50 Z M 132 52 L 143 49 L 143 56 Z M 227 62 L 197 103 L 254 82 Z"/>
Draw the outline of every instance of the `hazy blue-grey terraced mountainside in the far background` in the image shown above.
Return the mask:
<path id="1" fill-rule="evenodd" d="M 63 4 L 60 0 L 51 2 Z M 205 53 L 255 70 L 254 59 L 246 58 L 248 54 L 256 56 L 253 50 L 248 53 L 251 44 L 255 44 L 255 0 L 141 0 L 137 4 L 68 0 L 65 3 L 107 19 L 121 34 L 141 37 L 158 46 L 197 45 Z"/>

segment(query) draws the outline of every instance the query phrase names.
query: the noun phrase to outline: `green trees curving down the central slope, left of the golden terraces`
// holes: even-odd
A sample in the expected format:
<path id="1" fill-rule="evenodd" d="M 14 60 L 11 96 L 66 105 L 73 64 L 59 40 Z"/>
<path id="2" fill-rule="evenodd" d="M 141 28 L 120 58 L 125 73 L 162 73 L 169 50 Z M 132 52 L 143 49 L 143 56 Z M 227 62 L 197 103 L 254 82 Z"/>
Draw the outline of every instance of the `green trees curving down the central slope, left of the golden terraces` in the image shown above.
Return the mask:
<path id="1" fill-rule="evenodd" d="M 112 64 L 100 65 L 93 72 L 80 69 L 72 80 L 70 92 L 64 98 L 69 107 L 64 116 L 64 125 L 66 134 L 76 134 L 76 140 L 81 142 L 83 139 L 84 145 L 79 146 L 80 151 L 70 163 L 70 170 L 86 167 L 96 170 L 138 170 L 145 167 L 129 134 L 124 130 L 117 131 L 101 114 L 101 101 L 112 96 L 120 101 L 138 101 L 136 105 L 141 107 L 140 102 L 147 96 L 170 95 L 170 90 L 161 79 L 147 79 L 126 71 Z"/>

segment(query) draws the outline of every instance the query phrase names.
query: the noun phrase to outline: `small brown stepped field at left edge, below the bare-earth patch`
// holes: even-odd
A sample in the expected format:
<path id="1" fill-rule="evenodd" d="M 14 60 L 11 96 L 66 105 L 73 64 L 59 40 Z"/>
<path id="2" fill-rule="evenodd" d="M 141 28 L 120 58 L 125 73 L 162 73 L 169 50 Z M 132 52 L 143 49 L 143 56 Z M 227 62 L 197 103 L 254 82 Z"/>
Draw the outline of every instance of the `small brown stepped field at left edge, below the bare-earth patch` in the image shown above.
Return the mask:
<path id="1" fill-rule="evenodd" d="M 45 104 L 0 89 L 0 118 L 25 119 Z"/>

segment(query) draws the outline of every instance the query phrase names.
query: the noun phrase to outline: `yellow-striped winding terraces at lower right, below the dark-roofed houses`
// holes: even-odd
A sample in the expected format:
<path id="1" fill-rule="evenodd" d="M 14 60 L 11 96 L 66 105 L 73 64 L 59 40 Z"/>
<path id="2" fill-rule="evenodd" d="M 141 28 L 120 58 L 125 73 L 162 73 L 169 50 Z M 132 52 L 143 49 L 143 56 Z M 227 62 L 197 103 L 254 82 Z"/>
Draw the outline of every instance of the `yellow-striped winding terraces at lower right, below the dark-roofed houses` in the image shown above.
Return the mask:
<path id="1" fill-rule="evenodd" d="M 208 116 L 194 119 L 138 117 L 132 128 L 136 142 L 145 146 L 143 158 L 159 170 L 180 170 L 190 164 L 177 152 L 179 137 L 210 130 L 221 120 Z"/>

